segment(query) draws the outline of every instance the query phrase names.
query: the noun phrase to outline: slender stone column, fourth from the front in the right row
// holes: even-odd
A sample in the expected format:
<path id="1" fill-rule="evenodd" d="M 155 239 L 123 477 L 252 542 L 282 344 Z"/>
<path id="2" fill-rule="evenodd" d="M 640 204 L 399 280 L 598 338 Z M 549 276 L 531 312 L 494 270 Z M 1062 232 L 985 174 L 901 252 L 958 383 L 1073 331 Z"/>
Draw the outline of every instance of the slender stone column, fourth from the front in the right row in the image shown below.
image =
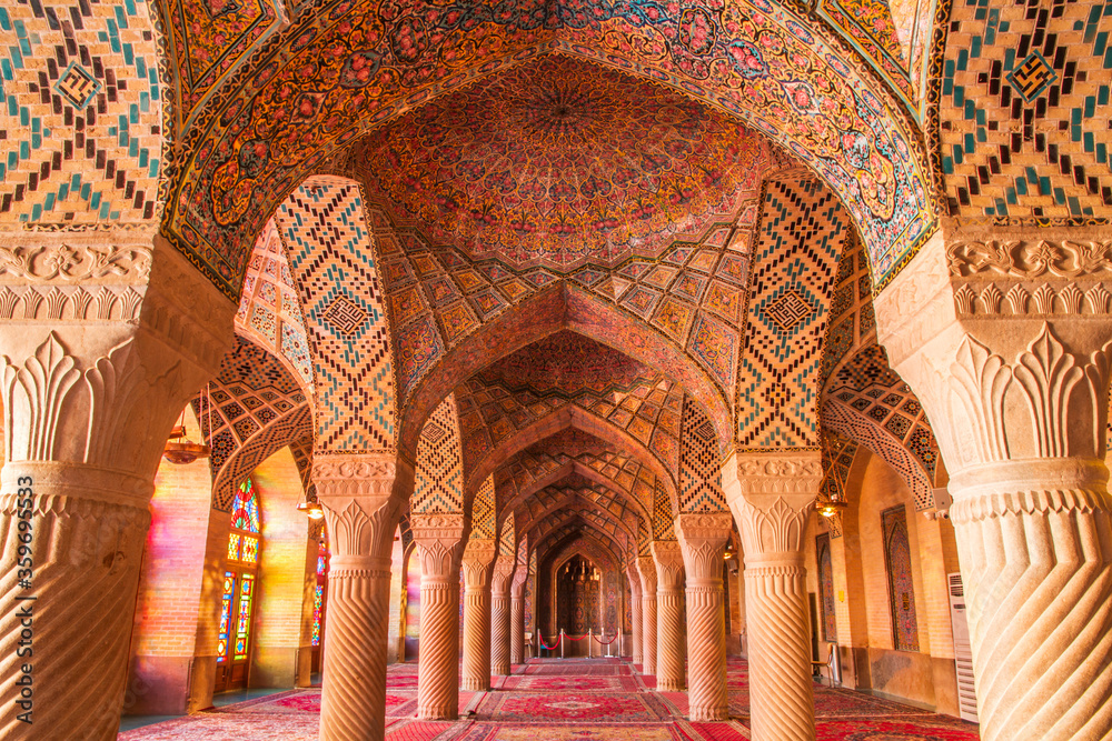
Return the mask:
<path id="1" fill-rule="evenodd" d="M 656 560 L 656 690 L 679 692 L 686 687 L 684 631 L 684 555 L 679 542 L 653 543 Z"/>

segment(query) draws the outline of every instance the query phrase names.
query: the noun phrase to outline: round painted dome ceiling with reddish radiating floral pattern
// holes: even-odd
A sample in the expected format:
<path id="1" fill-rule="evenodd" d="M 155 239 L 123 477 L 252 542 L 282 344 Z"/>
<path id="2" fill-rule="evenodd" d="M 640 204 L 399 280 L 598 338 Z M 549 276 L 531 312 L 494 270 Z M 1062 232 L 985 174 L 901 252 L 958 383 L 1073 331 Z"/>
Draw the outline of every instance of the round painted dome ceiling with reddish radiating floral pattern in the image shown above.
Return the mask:
<path id="1" fill-rule="evenodd" d="M 350 162 L 435 239 L 557 270 L 656 256 L 736 212 L 771 163 L 765 140 L 724 114 L 558 56 L 399 119 Z"/>

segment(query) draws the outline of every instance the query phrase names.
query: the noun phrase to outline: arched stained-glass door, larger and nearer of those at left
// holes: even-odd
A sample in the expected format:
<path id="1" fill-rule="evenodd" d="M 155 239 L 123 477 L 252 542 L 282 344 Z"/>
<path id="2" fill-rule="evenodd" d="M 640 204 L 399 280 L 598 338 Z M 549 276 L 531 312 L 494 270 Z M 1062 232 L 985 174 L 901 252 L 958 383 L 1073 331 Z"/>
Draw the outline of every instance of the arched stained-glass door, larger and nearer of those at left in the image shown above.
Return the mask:
<path id="1" fill-rule="evenodd" d="M 258 493 L 248 478 L 239 484 L 231 510 L 214 692 L 247 687 L 259 577 L 259 530 Z"/>

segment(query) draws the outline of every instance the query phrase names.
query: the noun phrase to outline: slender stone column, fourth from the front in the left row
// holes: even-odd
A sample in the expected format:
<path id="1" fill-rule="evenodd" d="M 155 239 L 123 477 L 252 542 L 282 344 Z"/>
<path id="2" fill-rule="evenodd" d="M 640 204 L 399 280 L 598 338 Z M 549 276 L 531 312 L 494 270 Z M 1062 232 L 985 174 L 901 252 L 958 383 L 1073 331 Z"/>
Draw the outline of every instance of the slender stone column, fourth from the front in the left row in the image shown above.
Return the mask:
<path id="1" fill-rule="evenodd" d="M 469 540 L 464 550 L 464 679 L 468 692 L 490 689 L 490 571 L 496 540 Z"/>

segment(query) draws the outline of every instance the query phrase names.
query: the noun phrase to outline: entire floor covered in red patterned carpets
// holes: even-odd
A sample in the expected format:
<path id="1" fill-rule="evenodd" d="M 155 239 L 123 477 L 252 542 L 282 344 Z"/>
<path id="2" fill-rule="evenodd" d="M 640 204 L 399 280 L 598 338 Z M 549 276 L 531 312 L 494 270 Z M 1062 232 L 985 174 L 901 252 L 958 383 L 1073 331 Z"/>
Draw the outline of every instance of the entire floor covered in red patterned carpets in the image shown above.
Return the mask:
<path id="1" fill-rule="evenodd" d="M 744 741 L 748 668 L 727 664 L 731 720 L 692 723 L 687 695 L 655 692 L 653 678 L 616 659 L 558 659 L 514 667 L 490 692 L 460 692 L 458 721 L 418 721 L 417 667 L 387 672 L 387 741 Z M 320 689 L 290 690 L 120 733 L 121 741 L 315 741 Z M 818 741 L 976 741 L 954 718 L 848 690 L 815 685 Z"/>

